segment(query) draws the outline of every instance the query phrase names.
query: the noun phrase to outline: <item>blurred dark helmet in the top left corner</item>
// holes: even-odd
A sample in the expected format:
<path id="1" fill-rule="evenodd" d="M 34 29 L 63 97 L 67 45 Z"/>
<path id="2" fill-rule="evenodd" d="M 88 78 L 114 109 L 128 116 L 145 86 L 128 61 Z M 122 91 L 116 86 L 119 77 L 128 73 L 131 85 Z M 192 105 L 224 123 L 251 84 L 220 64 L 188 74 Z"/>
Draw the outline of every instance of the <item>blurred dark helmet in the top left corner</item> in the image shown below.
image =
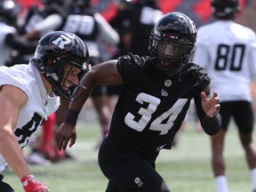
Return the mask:
<path id="1" fill-rule="evenodd" d="M 12 0 L 0 1 L 0 19 L 8 25 L 16 26 L 16 21 L 20 13 L 20 6 Z"/>

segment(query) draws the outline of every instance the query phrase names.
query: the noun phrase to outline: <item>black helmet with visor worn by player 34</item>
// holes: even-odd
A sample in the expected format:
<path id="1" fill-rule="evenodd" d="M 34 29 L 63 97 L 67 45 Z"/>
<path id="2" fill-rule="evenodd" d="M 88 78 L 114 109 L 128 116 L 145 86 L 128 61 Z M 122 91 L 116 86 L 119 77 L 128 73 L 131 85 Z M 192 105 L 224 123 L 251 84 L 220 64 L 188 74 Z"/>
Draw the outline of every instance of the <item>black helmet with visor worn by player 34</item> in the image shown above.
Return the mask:
<path id="1" fill-rule="evenodd" d="M 183 13 L 169 12 L 152 29 L 148 50 L 157 68 L 173 72 L 188 62 L 195 43 L 195 23 Z"/>

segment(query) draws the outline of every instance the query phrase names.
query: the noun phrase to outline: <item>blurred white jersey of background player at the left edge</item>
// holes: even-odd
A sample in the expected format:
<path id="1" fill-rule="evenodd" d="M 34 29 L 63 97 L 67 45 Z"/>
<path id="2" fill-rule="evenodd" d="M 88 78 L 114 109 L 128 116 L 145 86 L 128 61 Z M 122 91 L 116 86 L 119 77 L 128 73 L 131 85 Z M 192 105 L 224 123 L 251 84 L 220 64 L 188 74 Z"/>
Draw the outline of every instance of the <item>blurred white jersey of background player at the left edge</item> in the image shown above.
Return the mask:
<path id="1" fill-rule="evenodd" d="M 11 47 L 5 44 L 5 38 L 10 33 L 16 33 L 17 30 L 11 26 L 0 22 L 0 66 L 5 66 L 6 62 L 11 59 Z"/>

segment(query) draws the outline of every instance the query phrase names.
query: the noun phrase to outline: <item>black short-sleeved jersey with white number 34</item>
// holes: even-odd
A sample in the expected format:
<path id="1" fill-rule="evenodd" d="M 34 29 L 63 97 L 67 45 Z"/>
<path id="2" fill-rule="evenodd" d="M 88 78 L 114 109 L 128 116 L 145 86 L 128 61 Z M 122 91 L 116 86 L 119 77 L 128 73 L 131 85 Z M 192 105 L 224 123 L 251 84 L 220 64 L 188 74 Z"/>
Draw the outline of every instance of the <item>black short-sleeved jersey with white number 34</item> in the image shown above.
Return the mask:
<path id="1" fill-rule="evenodd" d="M 210 84 L 204 69 L 187 63 L 168 77 L 150 57 L 124 55 L 117 61 L 124 84 L 112 116 L 108 140 L 115 138 L 145 156 L 170 147 L 190 100 Z"/>

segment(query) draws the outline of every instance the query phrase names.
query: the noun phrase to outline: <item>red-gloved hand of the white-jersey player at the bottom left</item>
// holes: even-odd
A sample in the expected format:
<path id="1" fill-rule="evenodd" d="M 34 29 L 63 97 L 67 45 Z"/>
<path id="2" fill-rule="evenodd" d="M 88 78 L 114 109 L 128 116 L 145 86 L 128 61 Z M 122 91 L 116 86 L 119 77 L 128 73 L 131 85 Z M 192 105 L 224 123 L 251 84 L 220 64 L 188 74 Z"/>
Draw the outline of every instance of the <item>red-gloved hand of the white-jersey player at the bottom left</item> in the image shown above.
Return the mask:
<path id="1" fill-rule="evenodd" d="M 26 192 L 50 192 L 44 184 L 36 180 L 35 176 L 29 174 L 20 179 L 22 186 Z"/>

